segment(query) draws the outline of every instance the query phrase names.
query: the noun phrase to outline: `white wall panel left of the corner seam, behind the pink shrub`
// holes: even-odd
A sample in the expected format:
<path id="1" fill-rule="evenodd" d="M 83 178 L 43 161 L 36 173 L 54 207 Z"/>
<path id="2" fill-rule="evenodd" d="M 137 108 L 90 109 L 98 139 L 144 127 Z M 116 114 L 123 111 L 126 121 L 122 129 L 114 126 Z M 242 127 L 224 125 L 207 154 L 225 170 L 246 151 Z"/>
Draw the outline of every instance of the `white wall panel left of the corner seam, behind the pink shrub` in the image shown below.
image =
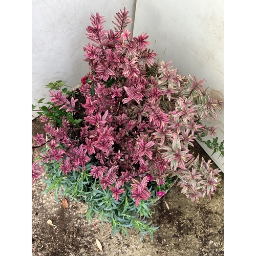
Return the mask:
<path id="1" fill-rule="evenodd" d="M 83 47 L 91 13 L 99 12 L 105 29 L 113 29 L 119 9 L 125 7 L 134 20 L 135 6 L 136 0 L 32 0 L 32 104 L 34 98 L 50 99 L 49 82 L 65 80 L 73 88 L 89 71 Z"/>

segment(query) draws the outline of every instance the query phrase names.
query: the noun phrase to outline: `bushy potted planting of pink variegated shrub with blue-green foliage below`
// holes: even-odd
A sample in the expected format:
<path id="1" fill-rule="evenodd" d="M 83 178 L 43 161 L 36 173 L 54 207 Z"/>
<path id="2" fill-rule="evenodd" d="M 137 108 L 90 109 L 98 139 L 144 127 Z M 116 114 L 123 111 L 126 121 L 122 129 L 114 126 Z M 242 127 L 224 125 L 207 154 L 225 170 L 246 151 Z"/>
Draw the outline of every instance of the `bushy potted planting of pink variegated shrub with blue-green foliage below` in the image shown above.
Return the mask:
<path id="1" fill-rule="evenodd" d="M 210 98 L 205 79 L 178 74 L 172 61 L 155 62 L 148 35 L 126 29 L 132 21 L 125 8 L 115 19 L 106 31 L 104 17 L 91 15 L 91 42 L 83 48 L 90 72 L 79 89 L 48 85 L 51 101 L 38 112 L 47 138 L 33 137 L 46 147 L 33 159 L 32 183 L 45 172 L 47 191 L 84 199 L 89 220 L 109 221 L 113 233 L 136 227 L 143 237 L 156 229 L 143 218 L 173 177 L 192 201 L 214 194 L 220 170 L 189 148 L 212 136 L 206 143 L 223 156 L 218 127 L 202 123 L 218 117 L 222 102 Z"/>

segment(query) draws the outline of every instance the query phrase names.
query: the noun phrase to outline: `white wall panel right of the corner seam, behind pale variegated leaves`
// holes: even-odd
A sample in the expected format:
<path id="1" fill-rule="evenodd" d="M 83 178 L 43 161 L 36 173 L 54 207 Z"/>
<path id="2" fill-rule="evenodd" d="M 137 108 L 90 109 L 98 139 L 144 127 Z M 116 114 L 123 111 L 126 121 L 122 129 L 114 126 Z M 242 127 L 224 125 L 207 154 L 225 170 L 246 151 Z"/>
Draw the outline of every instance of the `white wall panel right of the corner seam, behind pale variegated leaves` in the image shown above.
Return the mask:
<path id="1" fill-rule="evenodd" d="M 137 0 L 133 35 L 142 32 L 149 35 L 148 48 L 160 60 L 172 60 L 182 75 L 205 78 L 210 96 L 223 100 L 223 0 Z M 223 111 L 210 124 L 220 126 L 217 134 L 222 141 Z M 206 145 L 202 147 L 211 155 Z M 223 170 L 218 157 L 212 159 Z"/>

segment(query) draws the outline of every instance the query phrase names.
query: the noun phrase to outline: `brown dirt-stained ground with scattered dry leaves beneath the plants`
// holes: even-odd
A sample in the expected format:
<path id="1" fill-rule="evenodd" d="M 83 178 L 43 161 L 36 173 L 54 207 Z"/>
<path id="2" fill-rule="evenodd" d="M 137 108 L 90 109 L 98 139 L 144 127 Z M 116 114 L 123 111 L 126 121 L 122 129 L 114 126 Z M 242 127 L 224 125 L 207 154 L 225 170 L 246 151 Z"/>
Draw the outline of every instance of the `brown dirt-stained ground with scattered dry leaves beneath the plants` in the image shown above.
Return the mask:
<path id="1" fill-rule="evenodd" d="M 44 132 L 43 127 L 44 123 L 33 120 L 32 135 Z M 199 145 L 195 146 L 195 152 L 208 159 Z M 32 256 L 224 255 L 224 174 L 221 176 L 222 182 L 211 201 L 202 198 L 199 203 L 192 203 L 180 193 L 181 188 L 174 185 L 172 193 L 164 195 L 155 207 L 152 222 L 159 228 L 154 232 L 153 241 L 146 235 L 141 243 L 141 236 L 135 230 L 129 232 L 129 238 L 120 238 L 119 233 L 111 238 L 110 224 L 104 223 L 100 228 L 97 219 L 93 225 L 89 224 L 82 217 L 86 212 L 84 204 L 67 198 L 68 209 L 64 209 L 60 196 L 57 203 L 54 191 L 42 195 L 47 185 L 36 180 L 32 186 Z M 48 225 L 48 220 L 53 225 Z"/>

